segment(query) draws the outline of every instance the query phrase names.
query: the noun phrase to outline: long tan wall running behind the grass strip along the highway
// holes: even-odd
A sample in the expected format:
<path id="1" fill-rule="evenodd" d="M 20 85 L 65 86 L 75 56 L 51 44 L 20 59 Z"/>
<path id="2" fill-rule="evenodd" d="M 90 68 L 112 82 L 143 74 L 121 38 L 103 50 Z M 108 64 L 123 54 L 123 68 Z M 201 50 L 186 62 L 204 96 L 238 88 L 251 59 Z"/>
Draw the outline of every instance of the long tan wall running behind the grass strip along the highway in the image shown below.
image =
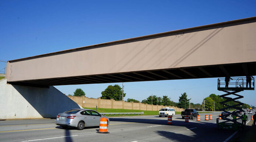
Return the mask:
<path id="1" fill-rule="evenodd" d="M 101 99 L 101 98 L 88 98 L 88 97 L 76 97 L 67 96 L 71 100 L 75 101 L 77 104 L 83 106 L 84 108 L 119 108 L 119 109 L 136 109 L 143 111 L 158 111 L 161 108 L 170 107 L 174 108 L 175 111 L 183 111 L 183 108 L 177 108 L 175 106 L 163 106 L 163 105 L 149 105 L 142 104 L 141 102 L 125 102 L 125 101 L 115 101 L 113 99 Z"/>

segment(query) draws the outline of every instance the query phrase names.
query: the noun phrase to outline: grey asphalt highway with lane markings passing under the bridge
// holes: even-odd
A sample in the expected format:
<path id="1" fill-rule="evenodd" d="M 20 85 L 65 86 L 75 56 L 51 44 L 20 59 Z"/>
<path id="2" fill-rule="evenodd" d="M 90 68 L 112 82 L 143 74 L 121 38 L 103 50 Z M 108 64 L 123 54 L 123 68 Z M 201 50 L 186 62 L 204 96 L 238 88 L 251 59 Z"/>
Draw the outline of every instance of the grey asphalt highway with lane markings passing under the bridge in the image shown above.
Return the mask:
<path id="1" fill-rule="evenodd" d="M 255 111 L 253 111 L 253 114 Z M 212 114 L 213 120 L 204 120 Z M 125 116 L 110 117 L 109 134 L 96 133 L 98 127 L 84 130 L 63 129 L 55 124 L 55 119 L 7 120 L 0 121 L 1 142 L 49 141 L 49 142 L 148 142 L 148 141 L 225 141 L 235 131 L 218 130 L 216 118 L 220 112 L 202 113 L 201 121 L 196 119 L 185 123 L 180 115 L 173 116 L 172 125 L 167 124 L 167 117 Z M 246 115 L 247 112 L 246 112 Z M 250 120 L 250 114 L 248 120 Z M 239 120 L 241 121 L 241 120 Z"/>

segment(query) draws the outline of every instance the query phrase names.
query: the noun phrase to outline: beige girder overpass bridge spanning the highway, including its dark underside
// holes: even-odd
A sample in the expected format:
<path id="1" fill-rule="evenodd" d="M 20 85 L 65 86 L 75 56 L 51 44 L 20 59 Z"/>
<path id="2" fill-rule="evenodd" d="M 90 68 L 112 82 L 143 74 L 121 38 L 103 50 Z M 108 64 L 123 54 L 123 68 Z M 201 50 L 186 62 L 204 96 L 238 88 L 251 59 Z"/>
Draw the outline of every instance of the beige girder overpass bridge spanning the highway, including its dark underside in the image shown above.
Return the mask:
<path id="1" fill-rule="evenodd" d="M 25 86 L 256 75 L 256 17 L 74 48 L 7 62 Z"/>

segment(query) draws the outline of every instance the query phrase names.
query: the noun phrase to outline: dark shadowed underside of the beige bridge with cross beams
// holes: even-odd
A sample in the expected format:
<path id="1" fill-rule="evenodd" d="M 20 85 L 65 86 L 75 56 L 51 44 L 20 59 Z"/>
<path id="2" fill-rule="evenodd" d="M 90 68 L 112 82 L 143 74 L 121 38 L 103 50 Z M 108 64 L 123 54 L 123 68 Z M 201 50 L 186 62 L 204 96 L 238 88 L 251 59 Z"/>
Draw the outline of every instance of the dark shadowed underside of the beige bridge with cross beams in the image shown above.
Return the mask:
<path id="1" fill-rule="evenodd" d="M 92 83 L 159 81 L 173 79 L 217 78 L 225 76 L 256 75 L 256 62 L 236 63 L 204 67 L 187 67 L 165 70 L 123 72 L 88 76 L 70 76 L 63 78 L 37 79 L 29 81 L 8 82 L 26 86 L 78 85 Z"/>

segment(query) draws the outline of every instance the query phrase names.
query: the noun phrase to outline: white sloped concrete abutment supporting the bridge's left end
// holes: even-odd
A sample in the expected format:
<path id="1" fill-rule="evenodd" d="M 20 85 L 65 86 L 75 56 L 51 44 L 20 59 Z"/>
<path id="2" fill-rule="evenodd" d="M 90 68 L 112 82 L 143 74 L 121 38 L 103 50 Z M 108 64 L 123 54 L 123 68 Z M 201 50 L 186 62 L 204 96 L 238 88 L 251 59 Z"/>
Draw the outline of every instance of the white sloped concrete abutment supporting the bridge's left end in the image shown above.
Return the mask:
<path id="1" fill-rule="evenodd" d="M 28 87 L 0 80 L 0 119 L 52 118 L 80 106 L 55 87 Z"/>

